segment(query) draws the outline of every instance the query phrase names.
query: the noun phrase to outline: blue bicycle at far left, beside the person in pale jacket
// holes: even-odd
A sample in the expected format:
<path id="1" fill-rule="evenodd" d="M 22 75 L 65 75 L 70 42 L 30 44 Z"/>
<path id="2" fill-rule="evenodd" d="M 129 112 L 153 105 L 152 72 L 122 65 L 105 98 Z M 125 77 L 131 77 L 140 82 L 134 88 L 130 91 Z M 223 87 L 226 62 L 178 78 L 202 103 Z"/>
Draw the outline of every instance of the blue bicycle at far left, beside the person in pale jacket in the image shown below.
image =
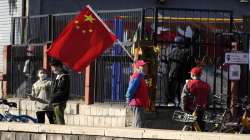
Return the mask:
<path id="1" fill-rule="evenodd" d="M 0 114 L 1 122 L 23 122 L 23 123 L 37 123 L 37 119 L 28 115 L 14 115 L 9 112 L 11 107 L 17 108 L 17 104 L 15 102 L 8 102 L 6 99 L 0 99 L 0 104 L 4 104 L 8 106 L 8 109 L 4 112 L 4 114 Z"/>

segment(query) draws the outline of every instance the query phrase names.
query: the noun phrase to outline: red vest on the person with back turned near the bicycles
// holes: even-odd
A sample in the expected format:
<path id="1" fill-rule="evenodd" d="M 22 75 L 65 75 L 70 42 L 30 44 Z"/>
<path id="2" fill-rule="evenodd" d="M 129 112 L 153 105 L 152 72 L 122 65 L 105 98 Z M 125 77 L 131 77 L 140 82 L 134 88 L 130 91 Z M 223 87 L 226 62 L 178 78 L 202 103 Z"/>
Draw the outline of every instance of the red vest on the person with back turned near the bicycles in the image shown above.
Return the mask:
<path id="1" fill-rule="evenodd" d="M 188 91 L 195 97 L 195 102 L 188 101 L 188 108 L 194 110 L 197 105 L 206 108 L 208 104 L 208 95 L 210 86 L 201 80 L 189 80 L 187 85 Z"/>

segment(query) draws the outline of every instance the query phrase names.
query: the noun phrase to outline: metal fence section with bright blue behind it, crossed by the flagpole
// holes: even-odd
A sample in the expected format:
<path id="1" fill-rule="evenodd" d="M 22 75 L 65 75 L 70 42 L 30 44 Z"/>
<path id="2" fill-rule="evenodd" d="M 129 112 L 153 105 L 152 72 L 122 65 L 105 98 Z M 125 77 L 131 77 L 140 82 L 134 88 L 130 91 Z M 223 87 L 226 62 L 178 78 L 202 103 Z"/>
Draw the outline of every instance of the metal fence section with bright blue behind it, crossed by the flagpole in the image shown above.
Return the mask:
<path id="1" fill-rule="evenodd" d="M 143 9 L 98 11 L 100 17 L 122 42 L 131 40 L 142 21 Z M 126 48 L 131 52 L 131 47 Z M 124 102 L 132 59 L 120 45 L 114 45 L 95 62 L 95 101 Z"/>

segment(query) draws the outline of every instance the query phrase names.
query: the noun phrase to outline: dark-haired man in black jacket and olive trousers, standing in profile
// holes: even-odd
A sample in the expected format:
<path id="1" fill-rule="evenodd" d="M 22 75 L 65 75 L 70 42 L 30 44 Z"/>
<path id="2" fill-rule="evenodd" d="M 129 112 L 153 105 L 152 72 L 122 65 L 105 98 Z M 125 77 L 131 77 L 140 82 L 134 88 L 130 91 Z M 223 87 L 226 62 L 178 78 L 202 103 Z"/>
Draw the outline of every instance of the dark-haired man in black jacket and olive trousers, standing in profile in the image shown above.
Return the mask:
<path id="1" fill-rule="evenodd" d="M 50 66 L 52 72 L 56 75 L 52 82 L 50 98 L 55 115 L 55 123 L 65 124 L 64 110 L 69 99 L 70 77 L 60 61 L 54 59 L 51 61 Z"/>

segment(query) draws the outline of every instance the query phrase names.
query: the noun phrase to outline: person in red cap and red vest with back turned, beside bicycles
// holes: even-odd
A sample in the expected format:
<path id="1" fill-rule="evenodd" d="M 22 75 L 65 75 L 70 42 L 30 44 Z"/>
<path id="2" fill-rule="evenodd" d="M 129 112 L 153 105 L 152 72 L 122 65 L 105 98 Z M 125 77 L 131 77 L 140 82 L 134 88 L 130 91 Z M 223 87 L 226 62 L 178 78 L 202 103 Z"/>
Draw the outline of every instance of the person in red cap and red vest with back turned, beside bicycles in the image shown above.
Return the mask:
<path id="1" fill-rule="evenodd" d="M 205 122 L 202 120 L 204 111 L 208 107 L 208 99 L 211 88 L 207 82 L 200 80 L 201 67 L 194 67 L 191 70 L 191 80 L 186 80 L 181 93 L 181 109 L 186 112 L 196 111 L 197 122 L 204 131 Z"/>

